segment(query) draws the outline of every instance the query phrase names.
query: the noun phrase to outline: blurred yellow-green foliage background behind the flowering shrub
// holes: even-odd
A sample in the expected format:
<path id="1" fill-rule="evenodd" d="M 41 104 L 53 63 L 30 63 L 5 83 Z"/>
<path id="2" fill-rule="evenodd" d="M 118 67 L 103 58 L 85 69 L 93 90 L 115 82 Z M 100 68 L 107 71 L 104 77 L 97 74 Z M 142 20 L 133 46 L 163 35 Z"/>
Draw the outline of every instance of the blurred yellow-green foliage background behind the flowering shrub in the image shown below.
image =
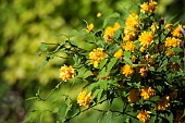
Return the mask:
<path id="1" fill-rule="evenodd" d="M 127 11 L 139 11 L 139 1 L 146 0 L 0 0 L 0 123 L 21 123 L 27 119 L 36 123 L 60 122 L 66 108 L 62 95 L 69 94 L 75 100 L 83 85 L 66 83 L 48 101 L 26 101 L 38 89 L 47 97 L 61 81 L 59 69 L 66 62 L 58 58 L 40 70 L 45 59 L 38 56 L 40 42 L 55 44 L 65 39 L 60 35 L 85 29 L 83 20 L 94 23 L 95 28 L 101 27 L 103 19 L 114 12 L 124 20 Z M 158 4 L 157 14 L 175 16 L 174 21 L 185 23 L 184 0 L 159 0 Z M 98 12 L 102 13 L 100 19 L 96 16 Z M 34 109 L 39 111 L 32 113 Z M 54 109 L 58 113 L 46 111 Z M 101 115 L 88 111 L 71 123 L 95 123 Z M 115 115 L 114 121 L 119 123 L 122 118 Z"/>

